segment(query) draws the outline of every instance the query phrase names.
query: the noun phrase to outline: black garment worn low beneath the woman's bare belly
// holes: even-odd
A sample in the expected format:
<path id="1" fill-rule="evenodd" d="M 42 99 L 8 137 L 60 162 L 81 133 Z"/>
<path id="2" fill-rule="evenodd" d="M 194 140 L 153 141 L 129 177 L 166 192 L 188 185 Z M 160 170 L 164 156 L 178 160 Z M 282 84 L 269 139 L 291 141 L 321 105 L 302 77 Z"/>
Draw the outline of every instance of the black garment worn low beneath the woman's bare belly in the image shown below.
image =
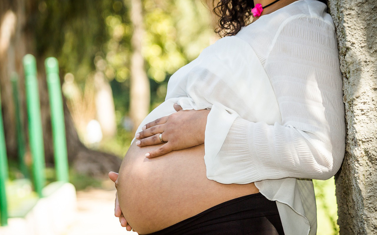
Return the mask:
<path id="1" fill-rule="evenodd" d="M 148 235 L 284 235 L 276 202 L 261 193 L 213 206 Z"/>

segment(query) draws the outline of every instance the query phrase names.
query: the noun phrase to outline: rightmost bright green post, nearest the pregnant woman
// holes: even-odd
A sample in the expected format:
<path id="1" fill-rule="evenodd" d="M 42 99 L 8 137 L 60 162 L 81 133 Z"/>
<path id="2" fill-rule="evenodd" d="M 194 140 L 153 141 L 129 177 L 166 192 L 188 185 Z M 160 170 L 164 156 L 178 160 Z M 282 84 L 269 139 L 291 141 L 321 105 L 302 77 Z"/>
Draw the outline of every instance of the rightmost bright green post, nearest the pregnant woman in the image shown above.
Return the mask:
<path id="1" fill-rule="evenodd" d="M 64 125 L 58 60 L 49 57 L 44 61 L 51 108 L 52 135 L 54 141 L 55 169 L 58 181 L 68 182 L 68 157 Z"/>

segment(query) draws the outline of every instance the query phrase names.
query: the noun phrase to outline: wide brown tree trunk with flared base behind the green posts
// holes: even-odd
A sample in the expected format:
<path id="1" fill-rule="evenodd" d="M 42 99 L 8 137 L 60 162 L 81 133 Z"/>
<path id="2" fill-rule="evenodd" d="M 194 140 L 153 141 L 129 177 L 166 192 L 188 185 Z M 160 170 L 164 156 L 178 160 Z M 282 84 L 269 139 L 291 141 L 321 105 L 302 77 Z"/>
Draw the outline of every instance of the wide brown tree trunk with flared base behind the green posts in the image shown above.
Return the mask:
<path id="1" fill-rule="evenodd" d="M 19 99 L 21 102 L 21 118 L 27 135 L 25 81 L 23 77 L 22 58 L 27 53 L 35 55 L 35 35 L 30 16 L 38 11 L 38 1 L 2 0 L 0 1 L 0 88 L 2 112 L 5 126 L 6 148 L 9 158 L 17 159 L 17 139 L 15 130 L 15 109 L 12 100 L 10 74 L 19 74 Z M 38 83 L 41 103 L 41 121 L 46 163 L 53 164 L 53 144 L 51 130 L 51 115 L 47 83 L 44 76 L 44 59 L 37 57 Z M 63 99 L 66 123 L 67 149 L 70 165 L 83 174 L 104 176 L 108 171 L 118 171 L 121 159 L 107 153 L 87 149 L 78 138 L 70 113 Z M 29 155 L 27 155 L 29 156 Z"/>

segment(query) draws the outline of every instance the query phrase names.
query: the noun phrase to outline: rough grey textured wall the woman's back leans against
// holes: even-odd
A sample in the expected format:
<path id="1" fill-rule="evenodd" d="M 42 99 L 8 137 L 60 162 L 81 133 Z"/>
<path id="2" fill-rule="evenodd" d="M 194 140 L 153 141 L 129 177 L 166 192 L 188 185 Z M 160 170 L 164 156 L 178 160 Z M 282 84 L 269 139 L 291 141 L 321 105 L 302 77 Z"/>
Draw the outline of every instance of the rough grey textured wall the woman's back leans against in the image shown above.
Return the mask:
<path id="1" fill-rule="evenodd" d="M 346 153 L 336 176 L 341 235 L 377 234 L 377 0 L 329 0 L 339 42 Z"/>

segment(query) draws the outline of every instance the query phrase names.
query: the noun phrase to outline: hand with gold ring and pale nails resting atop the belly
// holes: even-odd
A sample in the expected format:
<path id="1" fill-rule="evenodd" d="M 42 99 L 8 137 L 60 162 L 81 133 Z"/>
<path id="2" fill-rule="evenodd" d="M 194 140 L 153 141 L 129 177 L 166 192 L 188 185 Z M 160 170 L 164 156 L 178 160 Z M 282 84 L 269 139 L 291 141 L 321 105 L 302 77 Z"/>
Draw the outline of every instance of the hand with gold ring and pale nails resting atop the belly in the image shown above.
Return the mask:
<path id="1" fill-rule="evenodd" d="M 139 147 L 165 143 L 158 149 L 146 153 L 147 158 L 204 143 L 205 125 L 210 111 L 182 110 L 177 104 L 174 104 L 174 109 L 177 112 L 146 124 L 143 130 L 136 134 L 136 145 Z"/>

